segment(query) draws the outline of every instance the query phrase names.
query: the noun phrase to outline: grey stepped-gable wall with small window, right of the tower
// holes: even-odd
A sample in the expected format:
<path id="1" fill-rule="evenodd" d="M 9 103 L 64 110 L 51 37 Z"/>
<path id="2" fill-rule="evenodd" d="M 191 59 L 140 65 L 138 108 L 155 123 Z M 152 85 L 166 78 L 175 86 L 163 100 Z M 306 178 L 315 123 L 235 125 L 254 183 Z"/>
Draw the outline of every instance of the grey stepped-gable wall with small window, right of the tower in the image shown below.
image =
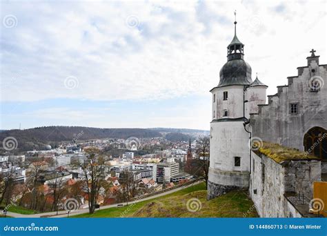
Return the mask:
<path id="1" fill-rule="evenodd" d="M 311 59 L 299 75 L 288 77 L 287 86 L 278 86 L 277 94 L 268 96 L 268 104 L 258 106 L 250 115 L 252 137 L 304 150 L 304 135 L 310 128 L 327 129 L 327 66 Z M 317 92 L 310 91 L 310 81 L 320 81 Z M 298 104 L 297 114 L 290 114 L 290 104 Z"/>

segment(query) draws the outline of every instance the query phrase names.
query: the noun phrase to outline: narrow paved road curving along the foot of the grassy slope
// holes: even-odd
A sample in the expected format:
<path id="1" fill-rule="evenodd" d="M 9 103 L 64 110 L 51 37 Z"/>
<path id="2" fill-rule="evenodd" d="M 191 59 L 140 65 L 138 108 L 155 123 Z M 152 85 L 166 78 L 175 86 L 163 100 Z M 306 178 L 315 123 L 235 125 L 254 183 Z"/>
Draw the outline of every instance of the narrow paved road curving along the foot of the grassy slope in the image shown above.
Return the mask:
<path id="1" fill-rule="evenodd" d="M 169 190 L 169 191 L 164 192 L 164 193 L 159 193 L 157 195 L 152 195 L 150 197 L 145 197 L 145 198 L 138 199 L 138 200 L 135 200 L 135 201 L 130 201 L 130 202 L 128 202 L 128 204 L 134 204 L 134 203 L 137 203 L 137 202 L 140 202 L 140 201 L 146 201 L 146 200 L 149 200 L 149 199 L 154 199 L 156 197 L 161 197 L 161 196 L 164 196 L 164 195 L 168 195 L 170 193 L 175 193 L 178 190 L 181 190 L 181 189 L 184 189 L 184 188 L 188 188 L 188 187 L 193 186 L 195 184 L 199 184 L 199 183 L 201 183 L 201 181 L 202 180 L 197 181 L 197 182 L 195 182 L 193 184 L 189 184 L 189 185 L 186 185 L 186 186 L 181 186 L 179 188 L 175 188 L 175 189 Z M 126 202 L 123 203 L 123 206 L 126 206 Z M 112 205 L 108 205 L 108 206 L 101 206 L 101 208 L 100 209 L 97 209 L 97 210 L 103 210 L 103 209 L 112 208 L 112 207 L 117 207 L 117 204 L 112 204 Z M 83 213 L 88 213 L 88 208 L 74 210 L 69 215 L 70 216 L 71 215 L 79 215 L 79 214 L 83 214 Z M 33 214 L 33 215 L 23 215 L 23 214 L 19 214 L 19 213 L 10 213 L 10 212 L 8 212 L 7 215 L 10 216 L 10 217 L 16 217 L 16 218 L 67 217 L 66 210 L 59 211 L 58 212 L 58 215 L 57 215 L 57 212 L 55 212 L 55 211 L 54 212 L 51 212 L 51 213 L 38 213 L 38 214 Z"/>

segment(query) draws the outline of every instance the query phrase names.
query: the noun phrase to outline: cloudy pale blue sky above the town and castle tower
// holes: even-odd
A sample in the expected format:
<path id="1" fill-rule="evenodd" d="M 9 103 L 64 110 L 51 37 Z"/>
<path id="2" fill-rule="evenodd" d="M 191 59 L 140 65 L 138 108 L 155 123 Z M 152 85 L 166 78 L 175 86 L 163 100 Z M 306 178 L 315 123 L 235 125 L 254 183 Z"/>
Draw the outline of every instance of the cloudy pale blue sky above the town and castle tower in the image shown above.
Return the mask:
<path id="1" fill-rule="evenodd" d="M 0 129 L 209 130 L 234 34 L 267 95 L 327 63 L 326 1 L 1 1 Z"/>

